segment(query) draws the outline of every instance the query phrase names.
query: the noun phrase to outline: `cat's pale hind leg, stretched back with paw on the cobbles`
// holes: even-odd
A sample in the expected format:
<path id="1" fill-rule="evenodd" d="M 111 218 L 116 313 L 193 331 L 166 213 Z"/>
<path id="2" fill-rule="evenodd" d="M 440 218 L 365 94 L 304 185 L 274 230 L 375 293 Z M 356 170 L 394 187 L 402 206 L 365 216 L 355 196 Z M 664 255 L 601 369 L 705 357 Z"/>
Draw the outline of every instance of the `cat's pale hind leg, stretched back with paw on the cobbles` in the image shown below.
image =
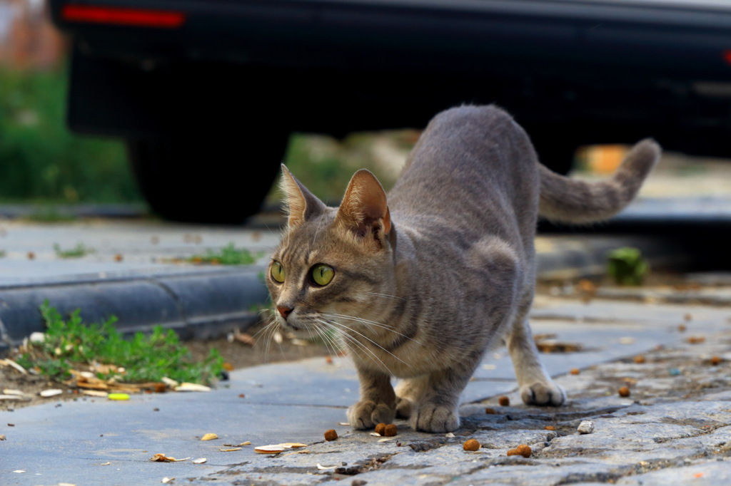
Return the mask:
<path id="1" fill-rule="evenodd" d="M 520 398 L 527 405 L 559 406 L 566 401 L 564 389 L 556 385 L 543 367 L 528 323 L 532 297 L 523 298 L 505 342 L 510 352 Z"/>

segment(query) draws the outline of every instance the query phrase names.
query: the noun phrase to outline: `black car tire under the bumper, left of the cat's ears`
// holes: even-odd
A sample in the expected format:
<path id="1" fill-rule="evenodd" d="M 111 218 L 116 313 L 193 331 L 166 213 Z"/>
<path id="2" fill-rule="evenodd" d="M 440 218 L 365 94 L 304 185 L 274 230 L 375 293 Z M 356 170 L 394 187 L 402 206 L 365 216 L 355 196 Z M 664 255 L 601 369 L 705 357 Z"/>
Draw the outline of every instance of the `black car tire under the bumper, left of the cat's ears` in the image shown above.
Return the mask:
<path id="1" fill-rule="evenodd" d="M 256 214 L 289 136 L 128 140 L 132 171 L 152 211 L 166 220 L 241 224 Z"/>

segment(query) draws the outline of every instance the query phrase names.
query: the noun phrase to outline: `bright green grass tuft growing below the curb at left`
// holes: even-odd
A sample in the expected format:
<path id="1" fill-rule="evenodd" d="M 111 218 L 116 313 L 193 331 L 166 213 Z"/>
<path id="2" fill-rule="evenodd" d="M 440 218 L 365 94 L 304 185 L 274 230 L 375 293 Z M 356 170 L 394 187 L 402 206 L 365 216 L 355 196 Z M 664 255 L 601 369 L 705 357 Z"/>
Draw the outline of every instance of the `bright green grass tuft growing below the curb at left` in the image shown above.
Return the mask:
<path id="1" fill-rule="evenodd" d="M 223 369 L 223 358 L 216 350 L 202 362 L 194 362 L 175 332 L 161 326 L 149 336 L 138 332 L 125 339 L 114 326 L 116 317 L 101 324 L 85 324 L 77 309 L 64 321 L 48 302 L 40 306 L 40 312 L 47 327 L 45 339 L 33 343 L 31 352 L 18 362 L 50 378 L 64 379 L 76 364 L 96 362 L 124 367 L 124 376 L 118 377 L 124 382 L 159 382 L 168 377 L 211 384 Z M 99 374 L 102 379 L 112 376 Z"/>

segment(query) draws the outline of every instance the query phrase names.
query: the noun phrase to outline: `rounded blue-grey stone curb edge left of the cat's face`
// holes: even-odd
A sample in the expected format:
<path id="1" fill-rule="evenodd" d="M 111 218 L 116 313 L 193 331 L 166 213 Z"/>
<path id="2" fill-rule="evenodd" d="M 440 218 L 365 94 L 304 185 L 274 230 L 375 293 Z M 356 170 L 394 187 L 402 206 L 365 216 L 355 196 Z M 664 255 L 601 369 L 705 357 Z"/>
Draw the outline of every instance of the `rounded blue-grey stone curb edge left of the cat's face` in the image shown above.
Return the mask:
<path id="1" fill-rule="evenodd" d="M 31 333 L 45 330 L 38 312 L 44 301 L 62 316 L 81 309 L 87 323 L 115 315 L 123 333 L 162 325 L 181 339 L 206 339 L 248 328 L 258 318 L 252 307 L 268 298 L 261 271 L 260 266 L 247 266 L 0 286 L 0 355 Z"/>

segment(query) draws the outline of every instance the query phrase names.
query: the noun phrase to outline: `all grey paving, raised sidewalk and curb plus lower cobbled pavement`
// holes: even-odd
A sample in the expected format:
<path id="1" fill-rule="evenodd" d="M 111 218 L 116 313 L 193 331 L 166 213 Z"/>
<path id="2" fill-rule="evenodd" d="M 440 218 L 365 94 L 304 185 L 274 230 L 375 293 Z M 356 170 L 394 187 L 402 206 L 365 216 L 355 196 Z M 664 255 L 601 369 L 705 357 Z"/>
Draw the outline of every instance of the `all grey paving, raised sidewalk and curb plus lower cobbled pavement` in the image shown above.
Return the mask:
<path id="1" fill-rule="evenodd" d="M 205 336 L 246 326 L 251 304 L 266 298 L 261 266 L 231 269 L 172 260 L 230 242 L 266 252 L 278 230 L 262 228 L 0 222 L 5 252 L 0 352 L 42 330 L 36 309 L 49 296 L 61 312 L 80 307 L 88 320 L 99 317 L 95 312 L 115 313 L 130 330 L 163 323 Z M 53 244 L 69 249 L 77 243 L 96 251 L 69 261 L 53 250 Z M 542 237 L 539 274 L 553 279 L 596 274 L 605 252 L 624 244 L 643 248 L 654 263 L 678 261 L 683 252 L 671 240 Z M 358 389 L 347 358 L 333 363 L 317 358 L 235 371 L 210 393 L 49 401 L 0 412 L 0 484 L 154 485 L 165 477 L 201 486 L 726 484 L 731 285 L 723 275 L 713 278 L 702 288 L 600 288 L 589 304 L 561 286 L 537 298 L 534 332 L 555 334 L 559 345 L 579 344 L 575 352 L 543 355 L 569 394 L 569 404 L 558 409 L 520 404 L 512 364 L 498 349 L 485 356 L 469 383 L 464 424 L 453 437 L 414 433 L 398 422 L 398 435 L 381 441 L 342 425 Z M 689 344 L 689 337 L 705 340 Z M 635 363 L 640 354 L 644 362 Z M 629 387 L 629 397 L 618 396 L 622 386 Z M 510 398 L 510 406 L 499 406 L 501 395 Z M 486 407 L 496 413 L 486 413 Z M 594 423 L 593 433 L 577 433 L 582 420 Z M 328 429 L 339 439 L 325 441 Z M 200 441 L 205 433 L 220 439 Z M 466 452 L 466 439 L 482 447 Z M 240 450 L 223 451 L 246 441 L 251 444 Z M 254 452 L 255 446 L 281 442 L 307 445 L 279 455 Z M 531 447 L 531 457 L 507 456 L 519 444 Z M 189 459 L 151 462 L 158 453 Z M 206 462 L 193 463 L 197 458 Z"/>

